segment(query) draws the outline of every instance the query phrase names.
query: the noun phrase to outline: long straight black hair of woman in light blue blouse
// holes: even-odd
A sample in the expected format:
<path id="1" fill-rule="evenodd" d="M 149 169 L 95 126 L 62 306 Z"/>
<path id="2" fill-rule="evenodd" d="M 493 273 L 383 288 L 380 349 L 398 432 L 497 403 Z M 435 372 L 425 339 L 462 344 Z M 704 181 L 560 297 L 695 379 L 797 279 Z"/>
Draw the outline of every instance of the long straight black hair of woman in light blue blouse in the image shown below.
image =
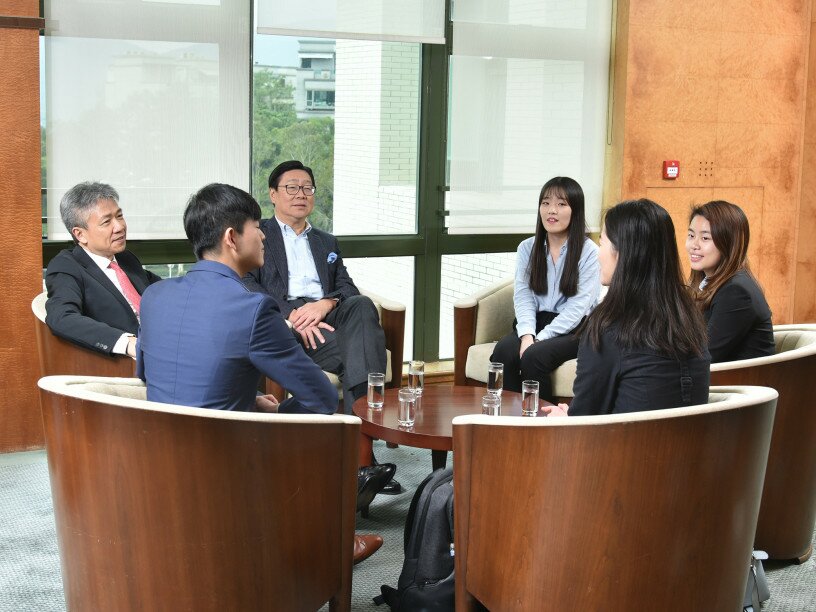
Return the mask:
<path id="1" fill-rule="evenodd" d="M 560 289 L 566 297 L 578 293 L 578 262 L 584 249 L 586 237 L 586 214 L 584 213 L 584 190 L 577 181 L 568 176 L 556 176 L 544 183 L 538 196 L 538 214 L 536 215 L 536 237 L 530 253 L 527 271 L 530 274 L 530 290 L 539 295 L 547 293 L 547 230 L 541 221 L 541 202 L 548 195 L 564 198 L 569 204 L 570 217 L 567 240 L 567 259 L 564 262 L 564 273 L 561 275 Z"/>

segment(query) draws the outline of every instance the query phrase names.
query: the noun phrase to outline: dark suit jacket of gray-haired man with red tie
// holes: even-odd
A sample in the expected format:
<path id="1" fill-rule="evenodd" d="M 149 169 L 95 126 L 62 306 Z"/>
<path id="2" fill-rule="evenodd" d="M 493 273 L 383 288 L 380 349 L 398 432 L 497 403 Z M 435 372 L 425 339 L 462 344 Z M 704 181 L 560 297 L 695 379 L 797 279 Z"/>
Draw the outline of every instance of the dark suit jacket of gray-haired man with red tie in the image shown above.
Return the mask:
<path id="1" fill-rule="evenodd" d="M 142 268 L 130 251 L 118 253 L 116 261 L 139 294 L 161 280 Z M 123 333 L 135 334 L 139 329 L 125 296 L 79 245 L 60 251 L 51 260 L 45 286 L 45 322 L 61 338 L 110 354 Z"/>

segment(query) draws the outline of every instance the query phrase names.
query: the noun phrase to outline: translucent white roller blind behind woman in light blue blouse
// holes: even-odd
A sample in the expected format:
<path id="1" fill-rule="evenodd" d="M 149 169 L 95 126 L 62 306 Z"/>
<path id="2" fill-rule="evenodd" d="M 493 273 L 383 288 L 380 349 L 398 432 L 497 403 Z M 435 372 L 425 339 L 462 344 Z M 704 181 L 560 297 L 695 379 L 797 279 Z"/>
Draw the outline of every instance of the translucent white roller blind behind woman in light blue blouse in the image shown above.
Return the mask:
<path id="1" fill-rule="evenodd" d="M 559 175 L 581 184 L 597 227 L 610 32 L 611 0 L 457 0 L 450 233 L 532 232 L 541 186 Z"/>

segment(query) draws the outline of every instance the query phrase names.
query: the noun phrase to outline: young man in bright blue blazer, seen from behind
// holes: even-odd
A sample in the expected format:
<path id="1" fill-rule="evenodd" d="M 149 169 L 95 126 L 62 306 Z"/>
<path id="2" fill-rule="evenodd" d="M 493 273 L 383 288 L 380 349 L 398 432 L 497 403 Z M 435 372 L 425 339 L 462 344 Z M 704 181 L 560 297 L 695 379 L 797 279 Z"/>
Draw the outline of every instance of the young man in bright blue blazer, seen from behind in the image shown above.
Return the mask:
<path id="1" fill-rule="evenodd" d="M 198 262 L 186 276 L 148 288 L 142 300 L 136 373 L 151 401 L 220 410 L 331 414 L 334 387 L 298 345 L 275 301 L 241 278 L 263 263 L 261 208 L 251 195 L 212 184 L 194 194 L 184 230 Z M 257 396 L 263 373 L 292 392 Z M 382 545 L 355 536 L 354 559 Z"/>

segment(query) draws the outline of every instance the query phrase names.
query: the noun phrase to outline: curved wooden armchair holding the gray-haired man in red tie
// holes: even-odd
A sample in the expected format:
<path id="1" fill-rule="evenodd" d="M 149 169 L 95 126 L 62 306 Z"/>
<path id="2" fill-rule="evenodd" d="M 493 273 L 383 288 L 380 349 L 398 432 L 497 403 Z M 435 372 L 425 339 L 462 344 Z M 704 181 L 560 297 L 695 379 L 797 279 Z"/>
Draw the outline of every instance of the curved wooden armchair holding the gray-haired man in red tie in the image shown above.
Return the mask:
<path id="1" fill-rule="evenodd" d="M 104 355 L 78 346 L 55 336 L 45 324 L 46 292 L 42 292 L 31 302 L 34 313 L 37 352 L 40 357 L 40 374 L 88 374 L 95 376 L 131 377 L 136 371 L 136 362 L 126 355 Z"/>

